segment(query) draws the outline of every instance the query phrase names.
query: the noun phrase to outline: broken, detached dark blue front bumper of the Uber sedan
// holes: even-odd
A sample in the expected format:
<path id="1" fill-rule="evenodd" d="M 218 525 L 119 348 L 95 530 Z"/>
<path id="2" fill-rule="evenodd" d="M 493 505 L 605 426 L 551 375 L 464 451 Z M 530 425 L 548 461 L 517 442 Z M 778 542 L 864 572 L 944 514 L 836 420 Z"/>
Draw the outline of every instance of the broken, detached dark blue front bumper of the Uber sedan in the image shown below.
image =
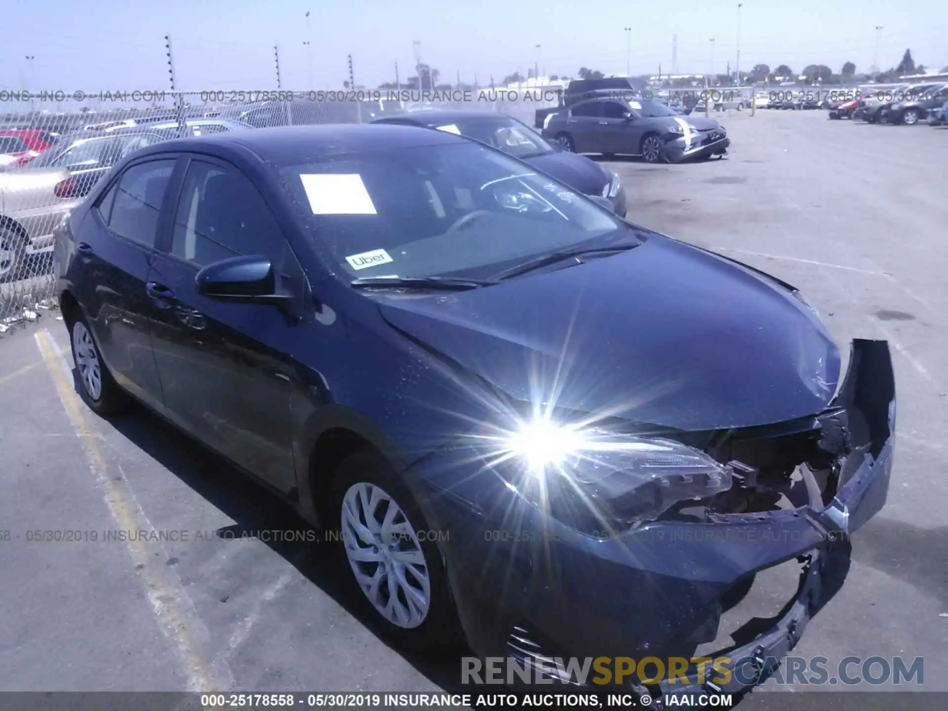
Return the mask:
<path id="1" fill-rule="evenodd" d="M 827 505 L 657 521 L 595 539 L 557 526 L 536 507 L 483 501 L 486 516 L 468 520 L 464 537 L 452 528 L 450 547 L 461 547 L 448 556 L 471 647 L 483 657 L 521 662 L 688 657 L 695 643 L 715 638 L 728 593 L 760 571 L 807 559 L 793 601 L 774 626 L 743 647 L 721 650 L 732 668 L 742 665 L 728 684 L 716 686 L 709 673 L 710 681 L 699 685 L 703 675 L 693 666 L 686 672 L 692 684 L 664 681 L 650 690 L 734 693 L 762 681 L 767 660 L 784 657 L 838 590 L 835 581 L 848 572 L 848 536 L 884 505 L 895 439 L 895 383 L 885 341 L 853 341 L 847 377 L 827 412 L 840 425 L 836 434 L 845 438 L 847 452 L 838 458 L 838 484 Z M 500 518 L 491 519 L 490 511 L 500 511 Z M 460 514 L 454 520 L 464 518 Z"/>

